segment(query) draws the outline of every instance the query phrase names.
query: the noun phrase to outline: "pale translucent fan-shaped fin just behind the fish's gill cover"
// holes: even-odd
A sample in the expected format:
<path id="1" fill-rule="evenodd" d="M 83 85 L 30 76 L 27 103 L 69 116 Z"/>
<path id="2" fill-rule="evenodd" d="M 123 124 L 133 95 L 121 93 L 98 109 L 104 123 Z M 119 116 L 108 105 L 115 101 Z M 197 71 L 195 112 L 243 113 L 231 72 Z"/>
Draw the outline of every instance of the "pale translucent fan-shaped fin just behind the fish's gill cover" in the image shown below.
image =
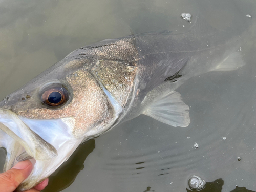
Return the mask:
<path id="1" fill-rule="evenodd" d="M 148 106 L 143 114 L 171 126 L 186 127 L 190 123 L 189 112 L 187 111 L 189 106 L 181 99 L 178 92 L 169 92 Z"/>

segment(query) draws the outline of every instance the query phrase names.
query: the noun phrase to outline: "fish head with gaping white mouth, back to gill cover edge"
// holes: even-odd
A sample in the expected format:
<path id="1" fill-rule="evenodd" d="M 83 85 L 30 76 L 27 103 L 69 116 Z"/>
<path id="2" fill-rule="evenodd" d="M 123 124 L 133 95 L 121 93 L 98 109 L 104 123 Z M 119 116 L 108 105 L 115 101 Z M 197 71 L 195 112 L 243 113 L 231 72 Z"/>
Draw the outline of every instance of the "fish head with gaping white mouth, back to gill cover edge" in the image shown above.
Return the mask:
<path id="1" fill-rule="evenodd" d="M 121 114 L 90 72 L 98 59 L 78 55 L 68 55 L 0 102 L 4 171 L 26 159 L 34 166 L 20 191 L 51 175 L 81 142 L 108 131 Z"/>

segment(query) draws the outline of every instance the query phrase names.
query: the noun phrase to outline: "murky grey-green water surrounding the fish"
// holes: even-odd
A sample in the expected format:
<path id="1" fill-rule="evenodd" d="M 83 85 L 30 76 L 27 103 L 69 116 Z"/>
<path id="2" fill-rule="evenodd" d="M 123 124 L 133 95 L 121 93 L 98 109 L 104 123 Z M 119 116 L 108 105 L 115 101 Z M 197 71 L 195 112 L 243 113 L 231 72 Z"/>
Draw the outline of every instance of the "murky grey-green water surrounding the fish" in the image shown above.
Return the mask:
<path id="1" fill-rule="evenodd" d="M 231 32 L 256 23 L 253 1 L 2 0 L 0 5 L 0 99 L 84 45 L 131 33 L 185 32 L 190 24 L 181 13 L 192 20 L 200 13 L 212 27 Z M 256 191 L 255 45 L 251 38 L 241 47 L 246 62 L 241 69 L 206 73 L 176 90 L 190 107 L 188 127 L 144 115 L 125 122 L 81 145 L 44 191 L 189 191 L 193 175 L 207 182 L 205 191 L 243 186 Z"/>

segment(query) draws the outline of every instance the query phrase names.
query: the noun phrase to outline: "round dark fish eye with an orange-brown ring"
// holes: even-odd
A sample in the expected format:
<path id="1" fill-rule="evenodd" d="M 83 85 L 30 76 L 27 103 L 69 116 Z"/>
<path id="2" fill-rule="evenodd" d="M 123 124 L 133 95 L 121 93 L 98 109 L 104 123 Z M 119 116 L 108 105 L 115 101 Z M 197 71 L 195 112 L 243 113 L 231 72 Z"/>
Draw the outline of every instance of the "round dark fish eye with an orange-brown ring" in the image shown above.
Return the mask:
<path id="1" fill-rule="evenodd" d="M 51 86 L 44 89 L 41 94 L 41 100 L 49 106 L 61 106 L 69 99 L 69 91 L 63 86 Z"/>

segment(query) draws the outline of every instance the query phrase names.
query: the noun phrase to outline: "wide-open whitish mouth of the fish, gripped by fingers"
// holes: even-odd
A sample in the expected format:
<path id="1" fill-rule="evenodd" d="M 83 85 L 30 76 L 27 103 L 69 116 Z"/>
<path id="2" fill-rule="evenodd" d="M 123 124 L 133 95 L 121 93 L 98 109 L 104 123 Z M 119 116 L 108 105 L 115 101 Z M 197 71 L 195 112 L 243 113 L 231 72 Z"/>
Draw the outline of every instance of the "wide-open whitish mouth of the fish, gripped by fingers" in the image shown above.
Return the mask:
<path id="1" fill-rule="evenodd" d="M 30 160 L 33 170 L 18 191 L 33 188 L 49 177 L 82 142 L 72 135 L 73 117 L 28 119 L 0 108 L 0 147 L 6 149 L 4 172 Z"/>

